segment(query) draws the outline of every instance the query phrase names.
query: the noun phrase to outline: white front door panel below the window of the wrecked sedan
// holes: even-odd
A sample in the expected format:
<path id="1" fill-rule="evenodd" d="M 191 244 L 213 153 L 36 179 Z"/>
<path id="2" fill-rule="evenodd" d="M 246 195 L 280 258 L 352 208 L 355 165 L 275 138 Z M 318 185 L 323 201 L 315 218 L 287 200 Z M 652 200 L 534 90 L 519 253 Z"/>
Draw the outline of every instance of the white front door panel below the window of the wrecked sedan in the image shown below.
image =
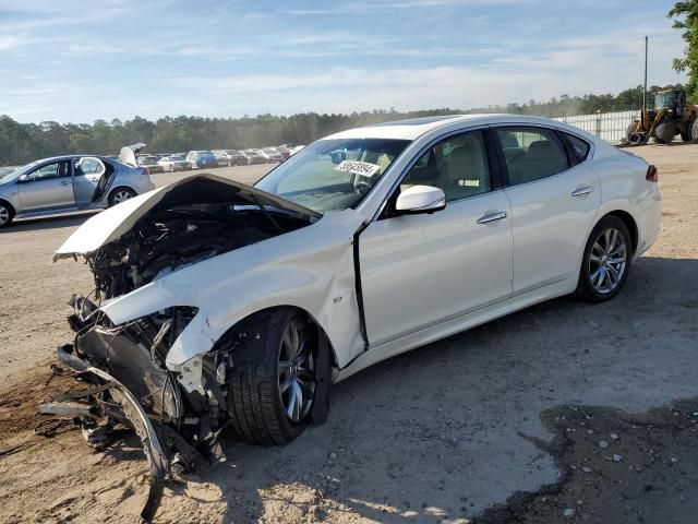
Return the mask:
<path id="1" fill-rule="evenodd" d="M 501 190 L 369 225 L 359 251 L 372 345 L 512 295 L 512 219 L 477 224 L 500 210 L 509 212 Z"/>

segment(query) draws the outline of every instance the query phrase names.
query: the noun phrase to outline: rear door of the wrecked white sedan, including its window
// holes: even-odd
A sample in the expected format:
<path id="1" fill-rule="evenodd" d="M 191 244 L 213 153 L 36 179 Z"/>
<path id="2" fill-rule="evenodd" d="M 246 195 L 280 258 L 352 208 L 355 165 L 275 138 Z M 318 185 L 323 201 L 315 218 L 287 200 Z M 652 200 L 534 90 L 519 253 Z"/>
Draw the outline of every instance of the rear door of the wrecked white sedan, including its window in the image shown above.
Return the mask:
<path id="1" fill-rule="evenodd" d="M 494 128 L 512 203 L 514 294 L 576 277 L 601 203 L 590 144 L 531 126 Z"/>

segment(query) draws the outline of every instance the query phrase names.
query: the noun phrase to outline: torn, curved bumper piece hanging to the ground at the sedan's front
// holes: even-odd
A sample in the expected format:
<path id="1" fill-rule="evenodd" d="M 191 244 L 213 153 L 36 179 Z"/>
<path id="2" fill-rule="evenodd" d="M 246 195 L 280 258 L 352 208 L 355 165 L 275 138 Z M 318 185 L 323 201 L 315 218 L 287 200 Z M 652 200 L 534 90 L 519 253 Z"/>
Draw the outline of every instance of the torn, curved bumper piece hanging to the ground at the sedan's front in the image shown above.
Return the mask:
<path id="1" fill-rule="evenodd" d="M 148 498 L 141 512 L 143 521 L 149 523 L 159 508 L 165 480 L 174 463 L 168 458 L 160 443 L 157 422 L 151 420 L 137 398 L 122 382 L 71 352 L 71 345 L 59 347 L 59 360 L 75 370 L 76 377 L 87 382 L 89 388 L 57 397 L 55 402 L 39 406 L 39 413 L 80 419 L 83 434 L 94 446 L 106 441 L 106 433 L 115 422 L 130 425 L 141 439 L 151 471 Z M 163 430 L 160 432 L 165 433 Z"/>

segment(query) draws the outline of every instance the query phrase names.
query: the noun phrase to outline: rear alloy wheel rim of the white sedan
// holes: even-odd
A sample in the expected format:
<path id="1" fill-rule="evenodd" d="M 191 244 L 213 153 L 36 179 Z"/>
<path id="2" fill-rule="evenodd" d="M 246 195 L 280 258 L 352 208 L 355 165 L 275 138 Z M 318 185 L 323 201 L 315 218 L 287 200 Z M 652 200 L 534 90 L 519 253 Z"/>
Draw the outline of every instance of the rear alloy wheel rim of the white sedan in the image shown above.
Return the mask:
<path id="1" fill-rule="evenodd" d="M 601 295 L 614 291 L 627 266 L 628 249 L 623 234 L 610 227 L 601 231 L 589 254 L 589 281 Z"/>

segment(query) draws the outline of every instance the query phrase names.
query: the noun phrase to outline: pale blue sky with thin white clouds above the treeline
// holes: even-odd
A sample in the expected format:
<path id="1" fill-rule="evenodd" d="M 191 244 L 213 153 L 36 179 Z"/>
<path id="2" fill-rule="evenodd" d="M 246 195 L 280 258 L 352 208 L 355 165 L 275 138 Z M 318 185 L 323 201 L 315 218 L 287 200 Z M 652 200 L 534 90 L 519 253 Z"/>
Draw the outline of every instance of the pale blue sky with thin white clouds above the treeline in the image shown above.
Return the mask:
<path id="1" fill-rule="evenodd" d="M 631 4 L 631 9 L 629 5 Z M 666 0 L 0 0 L 0 115 L 483 107 L 684 82 Z"/>

